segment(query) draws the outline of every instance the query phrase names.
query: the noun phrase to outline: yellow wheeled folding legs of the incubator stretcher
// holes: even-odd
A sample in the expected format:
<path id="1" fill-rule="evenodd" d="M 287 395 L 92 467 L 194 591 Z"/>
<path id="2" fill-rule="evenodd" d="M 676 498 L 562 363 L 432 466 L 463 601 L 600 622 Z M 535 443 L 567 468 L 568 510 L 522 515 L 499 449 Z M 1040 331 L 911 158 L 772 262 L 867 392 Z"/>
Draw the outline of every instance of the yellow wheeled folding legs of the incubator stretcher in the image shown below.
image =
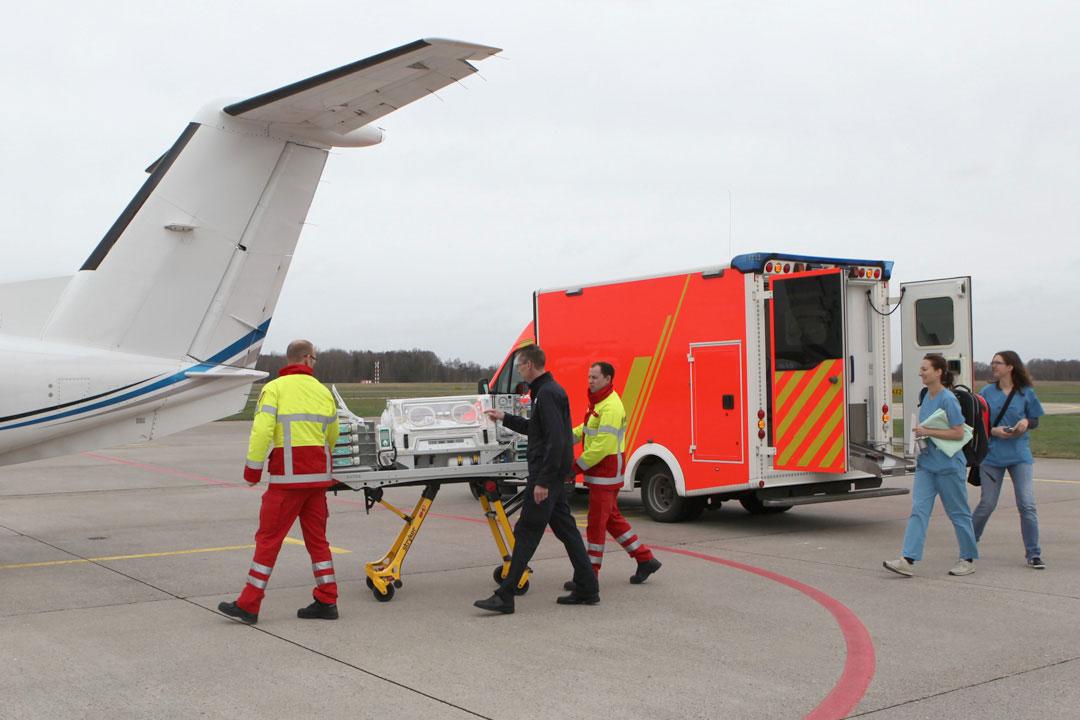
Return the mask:
<path id="1" fill-rule="evenodd" d="M 382 505 L 400 517 L 404 524 L 390 549 L 387 551 L 387 554 L 379 560 L 364 565 L 365 582 L 376 600 L 389 602 L 393 599 L 395 589 L 402 586 L 402 567 L 405 563 L 405 556 L 408 554 L 409 547 L 413 546 L 417 534 L 419 534 L 420 527 L 428 517 L 428 513 L 431 511 L 431 505 L 435 502 L 435 495 L 438 494 L 441 487 L 442 483 L 437 481 L 424 485 L 423 492 L 420 493 L 420 498 L 417 500 L 411 514 L 406 514 L 383 500 L 381 488 L 364 488 L 365 503 L 368 508 L 374 507 L 376 504 Z M 488 529 L 491 531 L 491 536 L 495 539 L 495 544 L 502 558 L 502 563 L 492 573 L 495 582 L 501 583 L 510 571 L 510 558 L 514 552 L 514 531 L 510 526 L 510 518 L 507 516 L 507 510 L 502 503 L 498 484 L 486 481 L 476 489 L 480 490 L 480 504 L 484 510 L 484 517 L 487 519 Z M 521 503 L 515 502 L 518 498 L 519 493 L 510 501 L 510 504 L 515 507 L 518 506 Z M 526 568 L 525 572 L 522 573 L 522 579 L 517 583 L 515 590 L 516 595 L 524 595 L 528 592 L 530 572 Z"/>

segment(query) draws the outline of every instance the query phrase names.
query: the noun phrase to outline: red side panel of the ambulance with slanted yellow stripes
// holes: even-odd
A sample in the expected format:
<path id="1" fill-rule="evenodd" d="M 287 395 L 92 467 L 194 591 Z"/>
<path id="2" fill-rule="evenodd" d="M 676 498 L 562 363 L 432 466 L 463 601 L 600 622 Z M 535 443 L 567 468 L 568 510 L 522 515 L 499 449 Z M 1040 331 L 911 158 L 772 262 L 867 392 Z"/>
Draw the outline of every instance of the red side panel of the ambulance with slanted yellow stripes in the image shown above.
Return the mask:
<path id="1" fill-rule="evenodd" d="M 590 365 L 607 361 L 626 407 L 627 459 L 644 445 L 666 449 L 657 454 L 674 457 L 686 493 L 745 485 L 745 288 L 725 270 L 538 293 L 537 341 L 571 420 L 588 410 Z"/>

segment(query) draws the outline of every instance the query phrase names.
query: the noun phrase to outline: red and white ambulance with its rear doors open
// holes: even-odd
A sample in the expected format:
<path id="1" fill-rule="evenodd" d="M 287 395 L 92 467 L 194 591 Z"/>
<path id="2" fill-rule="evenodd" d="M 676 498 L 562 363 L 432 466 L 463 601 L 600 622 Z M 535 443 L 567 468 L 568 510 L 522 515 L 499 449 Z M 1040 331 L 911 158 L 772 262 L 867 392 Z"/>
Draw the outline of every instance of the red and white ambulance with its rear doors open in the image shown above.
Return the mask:
<path id="1" fill-rule="evenodd" d="M 889 314 L 899 303 L 905 397 L 918 396 L 927 352 L 970 385 L 971 281 L 904 284 L 890 297 L 891 273 L 886 260 L 756 253 L 538 290 L 532 322 L 482 384 L 511 407 L 514 354 L 536 342 L 577 421 L 590 365 L 611 363 L 627 416 L 623 490 L 639 489 L 657 520 L 724 500 L 759 514 L 905 493 L 882 481 L 913 468 L 893 445 Z"/>

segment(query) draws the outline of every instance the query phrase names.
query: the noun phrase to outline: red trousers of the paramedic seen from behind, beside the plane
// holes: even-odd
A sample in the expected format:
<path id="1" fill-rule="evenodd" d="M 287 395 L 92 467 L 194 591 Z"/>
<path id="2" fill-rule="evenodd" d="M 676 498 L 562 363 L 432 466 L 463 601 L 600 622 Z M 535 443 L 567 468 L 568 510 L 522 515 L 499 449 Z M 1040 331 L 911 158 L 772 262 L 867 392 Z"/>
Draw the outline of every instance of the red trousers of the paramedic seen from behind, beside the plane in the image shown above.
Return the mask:
<path id="1" fill-rule="evenodd" d="M 296 518 L 300 518 L 303 544 L 311 556 L 311 572 L 315 576 L 312 593 L 320 602 L 337 602 L 337 578 L 330 545 L 326 542 L 326 488 L 286 489 L 271 485 L 262 493 L 259 511 L 259 529 L 255 533 L 255 558 L 247 572 L 247 584 L 237 598 L 237 604 L 247 612 L 258 614 L 267 581 L 278 560 L 281 544 Z"/>

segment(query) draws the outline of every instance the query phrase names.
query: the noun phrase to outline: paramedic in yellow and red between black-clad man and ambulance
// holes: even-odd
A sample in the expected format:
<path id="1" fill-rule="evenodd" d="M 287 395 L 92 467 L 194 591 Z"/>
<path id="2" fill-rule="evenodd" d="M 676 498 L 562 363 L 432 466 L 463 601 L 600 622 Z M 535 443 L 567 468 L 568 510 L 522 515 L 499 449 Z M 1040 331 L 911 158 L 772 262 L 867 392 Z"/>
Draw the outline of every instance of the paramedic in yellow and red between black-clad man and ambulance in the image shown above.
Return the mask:
<path id="1" fill-rule="evenodd" d="M 615 392 L 615 367 L 597 362 L 589 368 L 589 410 L 584 422 L 573 429 L 573 439 L 583 440 L 582 451 L 575 470 L 584 473 L 589 488 L 589 528 L 585 531 L 589 559 L 593 571 L 599 575 L 604 562 L 604 542 L 607 533 L 637 561 L 637 571 L 630 582 L 644 583 L 660 569 L 660 560 L 634 533 L 630 522 L 619 512 L 619 488 L 623 478 L 623 452 L 626 430 L 626 410 L 619 393 Z M 566 583 L 571 585 L 573 581 Z M 567 587 L 567 589 L 570 589 Z"/>

